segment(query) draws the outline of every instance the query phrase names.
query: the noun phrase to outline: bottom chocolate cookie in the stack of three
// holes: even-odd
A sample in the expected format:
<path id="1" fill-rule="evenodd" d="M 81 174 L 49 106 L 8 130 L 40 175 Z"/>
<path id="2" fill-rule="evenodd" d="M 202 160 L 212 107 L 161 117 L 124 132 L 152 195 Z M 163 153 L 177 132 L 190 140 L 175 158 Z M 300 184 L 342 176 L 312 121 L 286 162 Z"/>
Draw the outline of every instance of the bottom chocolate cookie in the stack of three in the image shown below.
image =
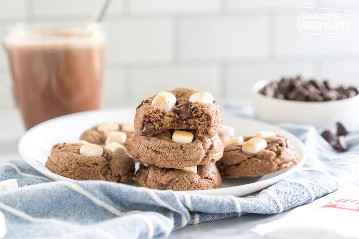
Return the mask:
<path id="1" fill-rule="evenodd" d="M 159 190 L 205 190 L 219 188 L 222 184 L 221 175 L 213 163 L 197 166 L 197 173 L 140 164 L 135 177 L 138 185 Z"/>

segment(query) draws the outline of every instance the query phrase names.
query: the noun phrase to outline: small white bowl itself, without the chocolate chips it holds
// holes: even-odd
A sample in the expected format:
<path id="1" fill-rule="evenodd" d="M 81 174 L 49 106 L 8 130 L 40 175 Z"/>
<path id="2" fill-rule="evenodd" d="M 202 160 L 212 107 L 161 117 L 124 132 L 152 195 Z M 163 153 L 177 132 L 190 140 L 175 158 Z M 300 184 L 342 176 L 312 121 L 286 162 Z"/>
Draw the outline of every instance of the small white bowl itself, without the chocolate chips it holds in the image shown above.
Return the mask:
<path id="1" fill-rule="evenodd" d="M 318 128 L 333 128 L 337 121 L 347 127 L 359 124 L 359 95 L 322 102 L 281 100 L 260 93 L 270 82 L 270 79 L 258 81 L 252 88 L 257 119 L 269 123 L 308 124 Z"/>

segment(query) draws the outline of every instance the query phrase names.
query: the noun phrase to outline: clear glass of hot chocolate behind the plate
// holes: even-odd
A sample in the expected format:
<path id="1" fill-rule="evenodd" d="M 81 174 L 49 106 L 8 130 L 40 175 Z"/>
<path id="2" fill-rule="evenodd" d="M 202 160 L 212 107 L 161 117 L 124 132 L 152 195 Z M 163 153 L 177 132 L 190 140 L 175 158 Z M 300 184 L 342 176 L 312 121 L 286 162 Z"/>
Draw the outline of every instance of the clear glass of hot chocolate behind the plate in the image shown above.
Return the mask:
<path id="1" fill-rule="evenodd" d="M 27 129 L 60 115 L 98 109 L 106 45 L 101 25 L 16 24 L 3 44 Z"/>

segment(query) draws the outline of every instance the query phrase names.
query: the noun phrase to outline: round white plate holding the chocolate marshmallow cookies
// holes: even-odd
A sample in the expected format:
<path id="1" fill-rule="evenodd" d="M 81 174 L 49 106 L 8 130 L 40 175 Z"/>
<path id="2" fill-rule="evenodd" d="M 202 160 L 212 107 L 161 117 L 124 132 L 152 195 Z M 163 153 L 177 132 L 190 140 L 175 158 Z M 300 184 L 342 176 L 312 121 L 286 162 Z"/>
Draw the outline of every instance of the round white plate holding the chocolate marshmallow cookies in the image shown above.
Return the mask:
<path id="1" fill-rule="evenodd" d="M 70 178 L 50 172 L 45 167 L 52 145 L 75 142 L 80 138 L 81 133 L 94 125 L 108 121 L 124 123 L 133 120 L 134 114 L 134 109 L 109 109 L 81 112 L 51 119 L 28 130 L 20 139 L 18 150 L 22 158 L 43 175 L 56 181 L 72 181 Z M 185 192 L 207 195 L 247 195 L 282 180 L 302 167 L 306 161 L 304 144 L 293 134 L 283 129 L 253 119 L 239 117 L 224 116 L 223 123 L 233 125 L 236 128 L 236 135 L 253 135 L 259 130 L 267 130 L 287 136 L 300 155 L 299 163 L 262 177 L 223 179 L 222 186 L 217 189 Z M 138 163 L 136 167 L 138 167 Z"/>

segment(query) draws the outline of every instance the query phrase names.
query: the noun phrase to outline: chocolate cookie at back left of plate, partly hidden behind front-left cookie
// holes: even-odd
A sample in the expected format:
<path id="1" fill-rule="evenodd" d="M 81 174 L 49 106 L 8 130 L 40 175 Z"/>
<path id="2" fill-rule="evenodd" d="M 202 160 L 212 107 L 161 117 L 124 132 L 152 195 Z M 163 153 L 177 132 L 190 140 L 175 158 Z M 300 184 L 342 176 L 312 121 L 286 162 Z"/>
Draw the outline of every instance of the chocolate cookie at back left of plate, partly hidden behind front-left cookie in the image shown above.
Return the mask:
<path id="1" fill-rule="evenodd" d="M 108 135 L 108 132 L 103 131 L 103 130 L 98 130 L 98 126 L 96 125 L 94 127 L 92 127 L 89 130 L 86 130 L 80 137 L 80 140 L 85 140 L 89 143 L 92 144 L 101 144 L 104 145 L 106 142 L 106 138 Z M 121 143 L 123 144 L 123 146 L 125 146 L 125 148 L 127 149 L 127 151 L 132 154 L 132 140 L 136 134 L 136 132 L 133 130 L 129 130 L 128 128 L 131 129 L 131 127 L 125 128 L 126 130 L 123 130 L 123 125 L 122 124 L 118 124 L 118 130 L 116 131 L 122 131 L 124 133 L 126 133 L 127 135 L 127 139 L 125 143 Z"/>

